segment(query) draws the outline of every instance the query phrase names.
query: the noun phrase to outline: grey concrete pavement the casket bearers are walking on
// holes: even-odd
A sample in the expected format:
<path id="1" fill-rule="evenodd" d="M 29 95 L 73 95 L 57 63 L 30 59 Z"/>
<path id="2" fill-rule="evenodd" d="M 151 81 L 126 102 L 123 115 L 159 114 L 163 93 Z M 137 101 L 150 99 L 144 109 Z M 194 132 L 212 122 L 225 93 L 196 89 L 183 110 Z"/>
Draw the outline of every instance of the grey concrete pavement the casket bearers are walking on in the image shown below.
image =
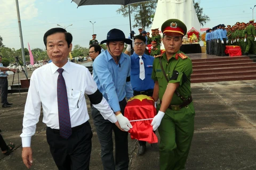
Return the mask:
<path id="1" fill-rule="evenodd" d="M 191 88 L 196 109 L 195 133 L 186 168 L 256 169 L 256 80 L 193 83 Z M 0 154 L 2 170 L 26 169 L 21 159 L 19 137 L 26 96 L 27 93 L 9 94 L 12 107 L 0 107 L 1 134 L 6 143 L 16 145 L 11 155 Z M 103 169 L 92 119 L 90 123 L 93 131 L 90 169 Z M 47 145 L 45 127 L 41 115 L 32 139 L 34 162 L 31 169 L 57 169 Z M 143 156 L 137 155 L 137 149 L 138 142 L 129 138 L 131 170 L 159 169 L 157 149 L 147 143 L 147 152 Z"/>

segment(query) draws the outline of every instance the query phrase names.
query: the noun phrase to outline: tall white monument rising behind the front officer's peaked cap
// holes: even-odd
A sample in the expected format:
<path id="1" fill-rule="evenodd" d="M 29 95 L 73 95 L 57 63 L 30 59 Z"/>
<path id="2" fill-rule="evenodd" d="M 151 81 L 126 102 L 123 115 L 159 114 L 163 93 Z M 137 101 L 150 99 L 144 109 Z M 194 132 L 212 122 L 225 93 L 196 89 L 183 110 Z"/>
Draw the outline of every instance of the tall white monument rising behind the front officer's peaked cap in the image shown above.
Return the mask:
<path id="1" fill-rule="evenodd" d="M 179 19 L 186 24 L 187 30 L 194 27 L 200 31 L 193 0 L 158 0 L 156 13 L 151 29 L 159 28 L 168 19 Z"/>

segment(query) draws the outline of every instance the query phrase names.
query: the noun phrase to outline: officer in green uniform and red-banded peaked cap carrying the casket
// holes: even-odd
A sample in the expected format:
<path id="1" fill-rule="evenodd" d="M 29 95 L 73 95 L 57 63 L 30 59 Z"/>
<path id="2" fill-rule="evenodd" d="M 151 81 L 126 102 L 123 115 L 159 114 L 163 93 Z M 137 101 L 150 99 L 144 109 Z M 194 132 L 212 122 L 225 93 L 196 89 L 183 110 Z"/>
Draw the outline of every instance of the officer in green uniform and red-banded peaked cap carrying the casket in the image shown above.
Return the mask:
<path id="1" fill-rule="evenodd" d="M 192 62 L 180 52 L 186 25 L 178 19 L 162 24 L 165 53 L 155 58 L 151 78 L 155 81 L 153 98 L 160 99 L 158 113 L 151 125 L 158 128 L 160 169 L 185 169 L 194 134 L 195 110 L 191 98 Z M 162 63 L 162 64 L 161 64 Z M 162 65 L 162 66 L 161 66 Z M 159 127 L 158 127 L 159 126 Z"/>

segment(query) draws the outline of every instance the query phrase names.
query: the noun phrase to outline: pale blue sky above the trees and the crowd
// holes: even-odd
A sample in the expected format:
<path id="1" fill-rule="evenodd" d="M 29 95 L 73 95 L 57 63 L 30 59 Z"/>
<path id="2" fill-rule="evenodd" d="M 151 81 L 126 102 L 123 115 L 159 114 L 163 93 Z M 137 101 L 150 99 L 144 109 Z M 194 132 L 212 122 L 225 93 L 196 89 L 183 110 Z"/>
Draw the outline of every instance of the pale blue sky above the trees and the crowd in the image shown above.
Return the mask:
<path id="1" fill-rule="evenodd" d="M 196 0 L 197 1 L 197 0 Z M 89 46 L 89 40 L 93 33 L 97 33 L 99 41 L 106 39 L 110 29 L 117 28 L 129 35 L 129 18 L 123 18 L 116 10 L 120 5 L 77 5 L 71 0 L 19 0 L 21 25 L 24 47 L 42 48 L 43 35 L 50 28 L 58 27 L 57 24 L 67 27 L 67 31 L 73 35 L 73 46 Z M 214 27 L 224 23 L 233 25 L 236 21 L 248 22 L 252 19 L 250 7 L 256 5 L 255 0 L 201 0 L 200 6 L 204 8 L 204 14 L 211 19 L 204 28 Z M 15 0 L 0 0 L 0 36 L 6 47 L 19 49 L 20 37 L 17 20 Z M 254 8 L 256 18 L 256 7 Z M 133 22 L 133 17 L 132 17 Z M 190 28 L 188 28 L 190 29 Z M 133 30 L 138 33 L 137 28 Z M 146 29 L 149 31 L 150 29 Z"/>

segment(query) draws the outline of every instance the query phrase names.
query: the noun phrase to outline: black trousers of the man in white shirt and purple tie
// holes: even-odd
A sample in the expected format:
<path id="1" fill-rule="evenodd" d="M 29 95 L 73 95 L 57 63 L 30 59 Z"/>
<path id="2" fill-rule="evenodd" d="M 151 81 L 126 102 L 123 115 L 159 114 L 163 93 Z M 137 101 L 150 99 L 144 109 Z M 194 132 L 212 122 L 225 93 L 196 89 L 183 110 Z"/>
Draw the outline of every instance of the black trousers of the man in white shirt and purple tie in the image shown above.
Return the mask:
<path id="1" fill-rule="evenodd" d="M 59 130 L 48 127 L 46 129 L 46 138 L 58 169 L 89 169 L 92 130 L 88 121 L 72 128 L 72 134 L 68 139 L 60 137 Z"/>

